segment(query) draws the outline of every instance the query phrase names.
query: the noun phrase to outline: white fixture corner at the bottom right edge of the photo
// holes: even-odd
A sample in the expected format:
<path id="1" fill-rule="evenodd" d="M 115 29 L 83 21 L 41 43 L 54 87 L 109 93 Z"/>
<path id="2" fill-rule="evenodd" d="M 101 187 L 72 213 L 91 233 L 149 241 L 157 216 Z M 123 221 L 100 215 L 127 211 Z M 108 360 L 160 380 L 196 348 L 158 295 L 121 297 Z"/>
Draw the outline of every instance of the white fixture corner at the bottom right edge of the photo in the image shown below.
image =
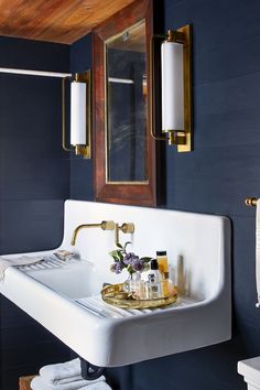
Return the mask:
<path id="1" fill-rule="evenodd" d="M 260 356 L 238 361 L 238 373 L 243 376 L 248 390 L 260 390 Z"/>

